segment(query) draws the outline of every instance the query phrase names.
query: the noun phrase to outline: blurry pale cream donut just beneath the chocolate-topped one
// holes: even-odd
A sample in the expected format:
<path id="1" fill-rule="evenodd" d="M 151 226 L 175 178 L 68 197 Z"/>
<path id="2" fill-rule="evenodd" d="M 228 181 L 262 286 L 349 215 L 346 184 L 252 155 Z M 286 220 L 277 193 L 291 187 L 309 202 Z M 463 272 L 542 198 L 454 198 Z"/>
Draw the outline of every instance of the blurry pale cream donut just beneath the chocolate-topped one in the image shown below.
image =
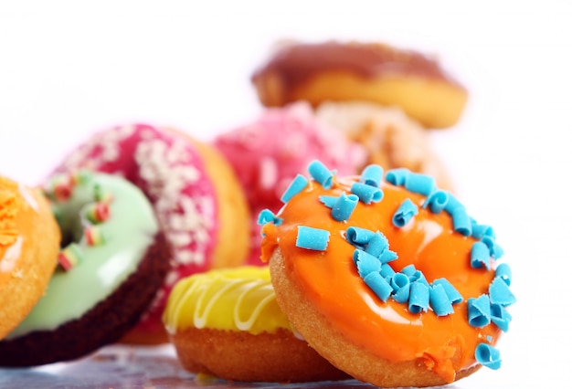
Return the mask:
<path id="1" fill-rule="evenodd" d="M 450 173 L 433 150 L 428 131 L 403 110 L 363 101 L 328 101 L 316 108 L 315 115 L 318 121 L 364 146 L 367 157 L 362 168 L 367 164 L 379 164 L 386 170 L 405 167 L 429 174 L 440 188 L 455 192 Z"/>

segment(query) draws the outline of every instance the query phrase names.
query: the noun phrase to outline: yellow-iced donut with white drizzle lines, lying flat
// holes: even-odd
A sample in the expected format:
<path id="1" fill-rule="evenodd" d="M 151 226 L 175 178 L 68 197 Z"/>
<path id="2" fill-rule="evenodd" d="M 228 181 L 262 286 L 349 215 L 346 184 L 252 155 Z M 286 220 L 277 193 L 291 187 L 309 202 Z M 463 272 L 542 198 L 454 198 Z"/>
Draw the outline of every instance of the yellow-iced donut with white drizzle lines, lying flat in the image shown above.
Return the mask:
<path id="1" fill-rule="evenodd" d="M 210 270 L 178 281 L 164 324 L 192 373 L 249 382 L 348 378 L 292 328 L 276 303 L 267 266 Z"/>

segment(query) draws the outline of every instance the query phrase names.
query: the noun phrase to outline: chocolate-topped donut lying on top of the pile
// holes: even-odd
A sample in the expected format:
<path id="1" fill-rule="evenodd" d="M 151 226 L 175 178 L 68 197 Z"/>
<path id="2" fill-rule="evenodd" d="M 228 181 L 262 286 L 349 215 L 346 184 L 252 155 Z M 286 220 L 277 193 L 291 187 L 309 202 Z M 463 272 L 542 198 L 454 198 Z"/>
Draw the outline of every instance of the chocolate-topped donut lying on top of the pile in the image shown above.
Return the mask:
<path id="1" fill-rule="evenodd" d="M 437 59 L 379 43 L 284 43 L 251 81 L 268 107 L 363 100 L 397 106 L 431 129 L 459 121 L 468 100 L 467 89 Z"/>

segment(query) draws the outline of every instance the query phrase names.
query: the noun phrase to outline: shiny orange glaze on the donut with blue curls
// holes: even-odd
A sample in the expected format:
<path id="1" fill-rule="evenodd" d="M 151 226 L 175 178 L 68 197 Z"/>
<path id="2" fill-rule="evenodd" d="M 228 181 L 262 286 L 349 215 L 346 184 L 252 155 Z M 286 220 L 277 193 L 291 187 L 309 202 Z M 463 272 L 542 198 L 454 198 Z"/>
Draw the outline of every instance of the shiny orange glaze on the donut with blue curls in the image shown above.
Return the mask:
<path id="1" fill-rule="evenodd" d="M 471 268 L 474 239 L 455 233 L 448 214 L 432 214 L 420 206 L 424 196 L 391 184 L 382 183 L 384 198 L 380 203 L 360 202 L 347 221 L 334 221 L 330 209 L 318 197 L 349 193 L 349 185 L 355 180 L 336 182 L 330 191 L 311 181 L 281 209 L 281 226 L 263 227 L 263 260 L 280 247 L 288 277 L 350 342 L 387 361 L 418 361 L 452 382 L 456 371 L 476 364 L 476 345 L 494 344 L 500 333 L 493 325 L 479 329 L 467 321 L 467 299 L 486 293 L 494 272 Z M 419 205 L 419 214 L 397 228 L 391 224 L 391 217 L 405 198 Z M 295 247 L 297 226 L 329 230 L 327 249 Z M 357 274 L 352 259 L 355 247 L 345 240 L 349 226 L 381 231 L 389 240 L 389 248 L 398 255 L 389 263 L 392 268 L 398 271 L 413 264 L 429 282 L 447 278 L 461 292 L 463 302 L 454 306 L 454 314 L 438 317 L 431 310 L 412 314 L 405 304 L 379 300 Z"/>

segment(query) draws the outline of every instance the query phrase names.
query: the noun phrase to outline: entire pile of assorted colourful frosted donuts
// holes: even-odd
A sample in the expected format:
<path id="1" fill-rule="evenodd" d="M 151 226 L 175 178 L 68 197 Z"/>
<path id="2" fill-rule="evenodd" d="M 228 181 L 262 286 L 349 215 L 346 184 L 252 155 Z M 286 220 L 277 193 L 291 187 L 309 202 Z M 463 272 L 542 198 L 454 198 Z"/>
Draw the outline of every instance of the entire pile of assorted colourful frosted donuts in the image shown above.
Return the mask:
<path id="1" fill-rule="evenodd" d="M 0 366 L 171 342 L 233 381 L 450 384 L 498 369 L 511 271 L 429 148 L 467 91 L 380 44 L 289 43 L 263 110 L 199 142 L 95 131 L 36 187 L 0 177 Z"/>

